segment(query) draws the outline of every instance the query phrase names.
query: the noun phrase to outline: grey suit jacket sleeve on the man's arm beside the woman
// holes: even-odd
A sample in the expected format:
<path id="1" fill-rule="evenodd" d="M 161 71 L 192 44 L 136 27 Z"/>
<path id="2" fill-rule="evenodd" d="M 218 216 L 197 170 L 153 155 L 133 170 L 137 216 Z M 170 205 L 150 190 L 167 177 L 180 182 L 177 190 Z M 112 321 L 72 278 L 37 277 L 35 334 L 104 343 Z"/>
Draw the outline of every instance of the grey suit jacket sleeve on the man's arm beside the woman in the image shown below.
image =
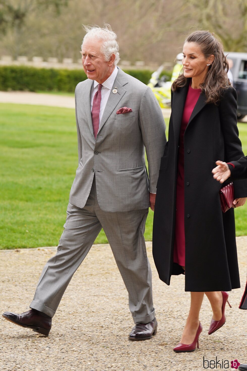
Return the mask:
<path id="1" fill-rule="evenodd" d="M 141 98 L 139 125 L 147 154 L 149 191 L 156 193 L 160 158 L 166 145 L 166 125 L 158 101 L 148 86 Z"/>

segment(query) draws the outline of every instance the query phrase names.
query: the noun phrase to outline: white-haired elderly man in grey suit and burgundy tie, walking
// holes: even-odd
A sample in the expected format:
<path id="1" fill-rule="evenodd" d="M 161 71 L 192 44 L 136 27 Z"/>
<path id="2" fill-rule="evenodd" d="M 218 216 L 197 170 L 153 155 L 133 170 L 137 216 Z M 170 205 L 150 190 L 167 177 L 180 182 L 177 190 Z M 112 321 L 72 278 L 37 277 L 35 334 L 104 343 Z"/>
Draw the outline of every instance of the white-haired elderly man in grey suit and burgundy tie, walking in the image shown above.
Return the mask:
<path id="1" fill-rule="evenodd" d="M 166 144 L 164 119 L 151 89 L 117 68 L 110 26 L 85 29 L 81 55 L 88 79 L 75 91 L 79 165 L 64 232 L 41 273 L 32 309 L 3 316 L 48 335 L 67 285 L 103 228 L 128 290 L 135 323 L 129 338 L 150 339 L 157 321 L 143 234 Z"/>

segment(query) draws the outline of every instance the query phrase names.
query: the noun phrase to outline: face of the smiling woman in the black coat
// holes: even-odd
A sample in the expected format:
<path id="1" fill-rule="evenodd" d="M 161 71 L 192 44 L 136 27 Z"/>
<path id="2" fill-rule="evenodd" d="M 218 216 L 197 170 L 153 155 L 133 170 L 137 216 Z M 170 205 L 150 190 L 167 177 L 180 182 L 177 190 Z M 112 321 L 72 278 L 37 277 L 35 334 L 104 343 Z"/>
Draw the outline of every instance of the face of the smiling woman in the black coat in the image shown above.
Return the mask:
<path id="1" fill-rule="evenodd" d="M 214 56 L 205 58 L 200 45 L 192 42 L 184 44 L 183 55 L 184 76 L 196 78 L 200 83 L 203 82 L 209 68 L 207 64 L 213 62 Z"/>

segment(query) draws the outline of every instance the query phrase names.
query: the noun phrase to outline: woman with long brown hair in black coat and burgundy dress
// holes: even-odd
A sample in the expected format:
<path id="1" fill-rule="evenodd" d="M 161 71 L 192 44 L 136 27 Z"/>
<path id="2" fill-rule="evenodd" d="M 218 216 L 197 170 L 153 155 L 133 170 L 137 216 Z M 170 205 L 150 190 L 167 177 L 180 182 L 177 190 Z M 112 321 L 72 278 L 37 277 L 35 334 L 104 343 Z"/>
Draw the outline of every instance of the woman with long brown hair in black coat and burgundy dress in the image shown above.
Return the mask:
<path id="1" fill-rule="evenodd" d="M 183 47 L 183 73 L 172 85 L 168 142 L 161 158 L 153 227 L 153 257 L 160 279 L 185 272 L 191 306 L 176 352 L 193 351 L 201 332 L 204 293 L 213 318 L 209 334 L 225 322 L 226 291 L 240 287 L 234 211 L 221 212 L 211 169 L 215 160 L 243 156 L 237 129 L 236 91 L 227 78 L 223 47 L 213 34 L 196 31 Z M 234 182 L 237 206 L 246 180 Z"/>

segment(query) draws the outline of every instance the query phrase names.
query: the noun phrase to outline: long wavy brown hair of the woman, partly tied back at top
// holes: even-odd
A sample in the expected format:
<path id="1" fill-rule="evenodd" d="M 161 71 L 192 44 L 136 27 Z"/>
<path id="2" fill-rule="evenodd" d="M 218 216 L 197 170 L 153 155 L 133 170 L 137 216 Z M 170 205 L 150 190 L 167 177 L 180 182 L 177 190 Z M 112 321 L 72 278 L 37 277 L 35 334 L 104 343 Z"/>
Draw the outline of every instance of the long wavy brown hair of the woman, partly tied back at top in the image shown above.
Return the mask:
<path id="1" fill-rule="evenodd" d="M 214 61 L 209 66 L 205 81 L 200 84 L 200 88 L 206 95 L 207 103 L 217 104 L 223 90 L 231 85 L 227 77 L 228 62 L 224 56 L 221 41 L 209 31 L 194 31 L 186 37 L 184 43 L 186 42 L 197 43 L 205 58 L 214 55 Z M 186 84 L 187 78 L 182 72 L 171 85 L 171 90 L 176 91 Z"/>

